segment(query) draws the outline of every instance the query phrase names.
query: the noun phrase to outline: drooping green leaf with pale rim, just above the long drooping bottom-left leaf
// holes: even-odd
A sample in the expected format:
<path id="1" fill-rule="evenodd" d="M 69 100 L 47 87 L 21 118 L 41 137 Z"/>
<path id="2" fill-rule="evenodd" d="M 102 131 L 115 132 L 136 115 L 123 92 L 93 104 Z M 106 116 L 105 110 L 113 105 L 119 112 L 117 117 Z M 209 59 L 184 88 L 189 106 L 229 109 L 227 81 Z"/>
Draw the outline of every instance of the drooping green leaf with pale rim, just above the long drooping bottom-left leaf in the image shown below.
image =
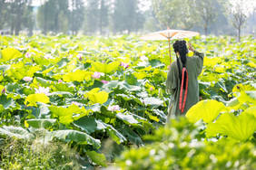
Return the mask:
<path id="1" fill-rule="evenodd" d="M 35 128 L 53 127 L 55 122 L 55 118 L 31 118 L 26 120 L 26 123 Z"/>

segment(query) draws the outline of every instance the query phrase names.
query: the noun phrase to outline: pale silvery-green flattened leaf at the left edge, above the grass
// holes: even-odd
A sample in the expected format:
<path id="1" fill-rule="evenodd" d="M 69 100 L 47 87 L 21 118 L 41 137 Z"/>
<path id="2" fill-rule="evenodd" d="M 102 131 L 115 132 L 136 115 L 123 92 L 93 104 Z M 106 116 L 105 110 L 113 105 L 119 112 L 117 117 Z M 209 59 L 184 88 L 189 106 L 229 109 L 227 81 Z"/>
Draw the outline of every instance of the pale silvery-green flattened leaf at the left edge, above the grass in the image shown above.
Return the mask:
<path id="1" fill-rule="evenodd" d="M 34 136 L 23 127 L 13 127 L 13 126 L 0 127 L 0 134 L 6 135 L 8 137 L 17 137 L 17 138 L 24 138 L 24 139 L 34 138 Z"/>

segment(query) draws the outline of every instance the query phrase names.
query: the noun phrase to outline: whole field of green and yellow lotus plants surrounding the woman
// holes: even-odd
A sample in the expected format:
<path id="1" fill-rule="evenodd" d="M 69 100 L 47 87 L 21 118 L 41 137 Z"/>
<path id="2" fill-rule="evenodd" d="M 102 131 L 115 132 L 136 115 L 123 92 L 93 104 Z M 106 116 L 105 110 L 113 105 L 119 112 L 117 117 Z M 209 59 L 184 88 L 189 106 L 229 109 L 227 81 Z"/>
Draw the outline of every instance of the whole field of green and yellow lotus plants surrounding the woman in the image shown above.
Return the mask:
<path id="1" fill-rule="evenodd" d="M 163 128 L 167 41 L 0 36 L 0 169 L 255 169 L 256 40 L 187 41 L 201 101 Z"/>

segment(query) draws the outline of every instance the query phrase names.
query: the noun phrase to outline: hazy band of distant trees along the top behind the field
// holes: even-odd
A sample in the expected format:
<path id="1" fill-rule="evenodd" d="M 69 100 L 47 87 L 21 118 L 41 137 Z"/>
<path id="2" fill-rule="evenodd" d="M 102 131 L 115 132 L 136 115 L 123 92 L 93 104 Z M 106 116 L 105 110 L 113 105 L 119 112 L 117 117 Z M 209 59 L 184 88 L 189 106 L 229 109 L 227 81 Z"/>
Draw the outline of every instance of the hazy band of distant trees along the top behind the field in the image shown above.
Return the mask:
<path id="1" fill-rule="evenodd" d="M 0 0 L 0 33 L 153 32 L 170 26 L 203 34 L 256 30 L 253 0 Z M 249 3 L 248 3 L 249 2 Z M 250 4 L 251 3 L 251 4 Z M 247 9 L 246 11 L 244 9 Z M 237 30 L 237 32 L 236 32 Z"/>

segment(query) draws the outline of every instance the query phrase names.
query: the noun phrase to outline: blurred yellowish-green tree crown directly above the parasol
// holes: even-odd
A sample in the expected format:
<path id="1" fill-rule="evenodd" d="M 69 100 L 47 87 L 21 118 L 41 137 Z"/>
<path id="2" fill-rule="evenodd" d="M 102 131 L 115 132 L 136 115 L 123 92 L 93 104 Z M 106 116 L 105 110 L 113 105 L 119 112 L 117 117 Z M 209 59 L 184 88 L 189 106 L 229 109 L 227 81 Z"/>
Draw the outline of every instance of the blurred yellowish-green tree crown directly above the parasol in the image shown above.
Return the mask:
<path id="1" fill-rule="evenodd" d="M 191 29 L 198 22 L 194 0 L 153 0 L 153 12 L 162 27 Z"/>

